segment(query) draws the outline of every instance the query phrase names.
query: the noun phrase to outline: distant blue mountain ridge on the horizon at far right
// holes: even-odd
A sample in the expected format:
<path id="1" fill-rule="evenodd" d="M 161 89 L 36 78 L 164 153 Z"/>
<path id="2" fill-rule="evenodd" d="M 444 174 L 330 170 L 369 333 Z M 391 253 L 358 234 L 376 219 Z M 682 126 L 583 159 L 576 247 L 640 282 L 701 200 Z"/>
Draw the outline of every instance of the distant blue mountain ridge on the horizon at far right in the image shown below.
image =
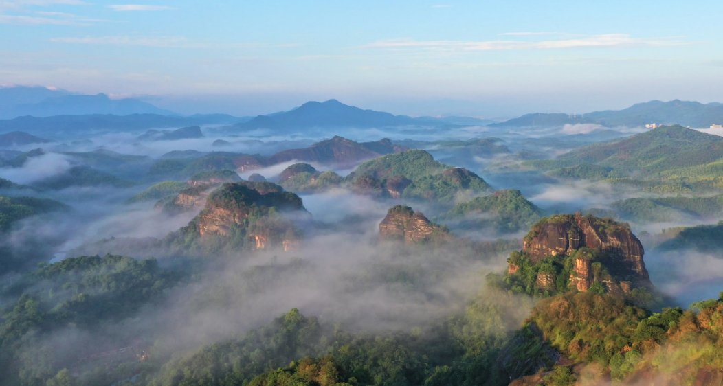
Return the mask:
<path id="1" fill-rule="evenodd" d="M 599 124 L 607 127 L 640 127 L 646 124 L 680 124 L 706 129 L 712 124 L 723 124 L 722 103 L 698 103 L 685 100 L 662 102 L 651 100 L 636 103 L 623 110 L 605 110 L 569 116 L 565 113 L 531 113 L 490 127 L 561 127 L 565 124 Z"/>

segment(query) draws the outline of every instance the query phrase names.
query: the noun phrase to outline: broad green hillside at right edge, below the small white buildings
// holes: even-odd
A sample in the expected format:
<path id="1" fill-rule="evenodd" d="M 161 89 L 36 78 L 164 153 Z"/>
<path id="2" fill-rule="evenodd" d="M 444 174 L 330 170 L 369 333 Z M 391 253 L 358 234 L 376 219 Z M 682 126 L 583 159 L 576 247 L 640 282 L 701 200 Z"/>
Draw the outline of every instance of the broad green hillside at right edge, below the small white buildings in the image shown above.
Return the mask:
<path id="1" fill-rule="evenodd" d="M 552 160 L 526 160 L 515 170 L 549 171 L 552 176 L 604 180 L 657 194 L 718 192 L 723 137 L 662 126 L 618 142 L 581 147 Z"/>

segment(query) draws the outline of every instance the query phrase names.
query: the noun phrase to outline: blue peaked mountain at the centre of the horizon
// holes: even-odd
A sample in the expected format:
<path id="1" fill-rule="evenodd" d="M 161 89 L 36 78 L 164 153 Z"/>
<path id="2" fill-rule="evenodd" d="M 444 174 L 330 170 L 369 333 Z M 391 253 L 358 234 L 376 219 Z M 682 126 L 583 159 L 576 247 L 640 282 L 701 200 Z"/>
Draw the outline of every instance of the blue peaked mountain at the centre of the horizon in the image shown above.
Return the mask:
<path id="1" fill-rule="evenodd" d="M 235 124 L 234 129 L 250 131 L 255 129 L 369 128 L 407 125 L 442 126 L 459 123 L 473 126 L 488 122 L 483 119 L 460 119 L 458 117 L 451 117 L 447 120 L 432 117 L 395 116 L 381 111 L 362 110 L 330 99 L 323 103 L 307 102 L 299 108 L 283 113 L 257 116 L 245 123 Z"/>

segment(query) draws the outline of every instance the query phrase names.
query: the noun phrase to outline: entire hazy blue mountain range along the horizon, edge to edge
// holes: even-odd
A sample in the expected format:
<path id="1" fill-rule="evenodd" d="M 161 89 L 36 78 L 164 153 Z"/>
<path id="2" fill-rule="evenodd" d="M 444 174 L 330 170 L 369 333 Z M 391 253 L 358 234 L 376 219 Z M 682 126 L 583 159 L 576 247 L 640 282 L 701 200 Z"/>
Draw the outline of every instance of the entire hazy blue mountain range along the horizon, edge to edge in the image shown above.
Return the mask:
<path id="1" fill-rule="evenodd" d="M 48 121 L 33 121 L 32 116 Z M 133 116 L 133 117 L 131 117 Z M 20 118 L 19 118 L 20 117 Z M 0 130 L 33 132 L 30 126 L 68 126 L 79 129 L 151 129 L 199 124 L 228 124 L 228 132 L 269 129 L 275 132 L 309 129 L 377 128 L 423 126 L 453 129 L 461 126 L 489 126 L 495 129 L 557 128 L 567 124 L 599 124 L 607 127 L 638 127 L 646 124 L 680 124 L 706 128 L 723 124 L 722 103 L 698 103 L 683 100 L 652 100 L 623 110 L 594 111 L 570 116 L 565 113 L 530 113 L 504 122 L 489 119 L 450 116 L 435 118 L 398 115 L 347 106 L 338 100 L 307 102 L 290 111 L 254 118 L 235 118 L 226 114 L 182 117 L 133 98 L 114 100 L 105 94 L 77 95 L 46 87 L 0 88 Z M 29 126 L 28 126 L 29 125 Z"/>

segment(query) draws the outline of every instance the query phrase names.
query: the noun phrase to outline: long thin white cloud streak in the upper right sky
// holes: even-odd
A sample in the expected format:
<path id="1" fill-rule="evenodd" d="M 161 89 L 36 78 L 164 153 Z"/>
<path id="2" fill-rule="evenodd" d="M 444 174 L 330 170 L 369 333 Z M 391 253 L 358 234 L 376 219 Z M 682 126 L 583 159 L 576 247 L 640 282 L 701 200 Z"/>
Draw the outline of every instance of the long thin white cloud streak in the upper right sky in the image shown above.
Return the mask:
<path id="1" fill-rule="evenodd" d="M 429 40 L 416 41 L 408 38 L 378 40 L 361 48 L 422 48 L 428 50 L 446 51 L 511 51 L 511 50 L 544 50 L 560 48 L 583 47 L 635 47 L 635 46 L 680 46 L 688 44 L 683 37 L 672 36 L 667 38 L 631 38 L 622 33 L 609 33 L 606 35 L 588 35 L 583 38 L 544 40 L 529 42 L 519 40 L 490 40 L 490 41 L 456 41 L 456 40 Z"/>

